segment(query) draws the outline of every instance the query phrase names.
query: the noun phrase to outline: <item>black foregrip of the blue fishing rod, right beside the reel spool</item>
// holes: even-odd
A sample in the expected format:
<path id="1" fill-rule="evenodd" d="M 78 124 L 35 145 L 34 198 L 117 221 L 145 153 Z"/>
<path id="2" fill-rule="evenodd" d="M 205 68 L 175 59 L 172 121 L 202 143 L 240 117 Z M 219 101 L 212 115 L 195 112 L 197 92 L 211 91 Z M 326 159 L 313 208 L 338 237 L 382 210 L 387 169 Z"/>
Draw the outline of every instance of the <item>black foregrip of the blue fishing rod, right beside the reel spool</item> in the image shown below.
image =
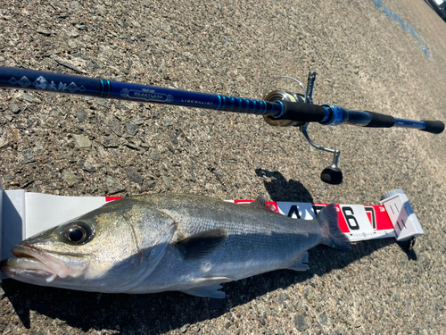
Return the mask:
<path id="1" fill-rule="evenodd" d="M 291 101 L 282 101 L 282 103 L 285 111 L 280 117 L 275 118 L 277 120 L 318 122 L 326 117 L 326 109 L 321 105 L 293 103 Z"/>

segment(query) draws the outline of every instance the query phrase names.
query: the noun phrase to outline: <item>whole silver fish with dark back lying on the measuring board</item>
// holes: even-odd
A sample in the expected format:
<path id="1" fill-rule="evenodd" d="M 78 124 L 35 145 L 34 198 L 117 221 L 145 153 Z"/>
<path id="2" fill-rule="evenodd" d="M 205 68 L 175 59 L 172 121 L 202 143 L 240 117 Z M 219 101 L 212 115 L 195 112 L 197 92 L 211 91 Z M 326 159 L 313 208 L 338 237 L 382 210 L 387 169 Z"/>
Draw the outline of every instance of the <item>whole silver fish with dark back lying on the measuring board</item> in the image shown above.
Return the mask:
<path id="1" fill-rule="evenodd" d="M 31 284 L 107 293 L 181 291 L 225 297 L 221 283 L 277 269 L 306 271 L 311 247 L 343 250 L 335 205 L 312 221 L 193 195 L 112 201 L 12 248 L 0 270 Z"/>

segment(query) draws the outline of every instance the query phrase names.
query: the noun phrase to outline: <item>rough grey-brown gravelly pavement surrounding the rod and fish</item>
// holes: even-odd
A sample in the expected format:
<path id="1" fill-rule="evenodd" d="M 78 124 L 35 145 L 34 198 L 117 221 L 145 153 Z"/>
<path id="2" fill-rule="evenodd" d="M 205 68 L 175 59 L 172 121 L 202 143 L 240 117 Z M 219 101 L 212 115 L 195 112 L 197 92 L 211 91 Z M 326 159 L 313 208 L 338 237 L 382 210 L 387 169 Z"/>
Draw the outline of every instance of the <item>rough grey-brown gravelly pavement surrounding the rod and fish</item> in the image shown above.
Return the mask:
<path id="1" fill-rule="evenodd" d="M 169 2 L 3 0 L 0 65 L 257 97 L 306 81 L 316 104 L 445 121 L 446 24 L 421 0 Z M 6 189 L 66 196 L 195 193 L 222 199 L 378 204 L 402 188 L 425 230 L 350 253 L 310 251 L 310 271 L 224 285 L 223 300 L 105 295 L 6 280 L 6 334 L 442 334 L 446 140 L 417 130 L 310 126 L 342 151 L 344 182 L 295 129 L 256 116 L 0 91 Z"/>

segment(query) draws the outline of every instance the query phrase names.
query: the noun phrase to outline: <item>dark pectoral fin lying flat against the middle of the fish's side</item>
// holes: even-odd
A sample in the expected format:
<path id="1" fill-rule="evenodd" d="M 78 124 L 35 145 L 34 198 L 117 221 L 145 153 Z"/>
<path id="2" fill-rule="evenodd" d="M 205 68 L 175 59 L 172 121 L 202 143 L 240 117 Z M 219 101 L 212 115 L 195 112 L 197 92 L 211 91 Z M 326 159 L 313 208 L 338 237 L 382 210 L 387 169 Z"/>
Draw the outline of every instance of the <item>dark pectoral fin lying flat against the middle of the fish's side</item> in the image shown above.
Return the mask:
<path id="1" fill-rule="evenodd" d="M 223 229 L 206 230 L 178 241 L 177 247 L 185 260 L 199 259 L 211 254 L 221 246 L 227 238 L 227 231 Z"/>

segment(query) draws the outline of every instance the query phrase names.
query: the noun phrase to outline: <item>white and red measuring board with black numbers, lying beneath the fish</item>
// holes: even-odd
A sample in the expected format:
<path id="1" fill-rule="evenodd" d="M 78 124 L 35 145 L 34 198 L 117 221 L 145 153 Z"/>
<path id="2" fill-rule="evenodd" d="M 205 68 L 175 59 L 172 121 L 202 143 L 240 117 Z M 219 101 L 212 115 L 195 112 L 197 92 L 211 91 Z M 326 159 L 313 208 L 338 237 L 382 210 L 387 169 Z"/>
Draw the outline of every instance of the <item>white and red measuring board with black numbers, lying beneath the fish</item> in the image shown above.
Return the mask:
<path id="1" fill-rule="evenodd" d="M 12 257 L 12 247 L 22 240 L 119 198 L 62 197 L 25 192 L 23 189 L 3 190 L 0 183 L 0 259 Z M 229 201 L 249 204 L 253 200 Z M 327 204 L 268 201 L 267 205 L 279 214 L 311 220 Z M 384 194 L 381 205 L 335 206 L 339 228 L 351 242 L 383 238 L 406 240 L 424 234 L 408 197 L 401 189 Z"/>

